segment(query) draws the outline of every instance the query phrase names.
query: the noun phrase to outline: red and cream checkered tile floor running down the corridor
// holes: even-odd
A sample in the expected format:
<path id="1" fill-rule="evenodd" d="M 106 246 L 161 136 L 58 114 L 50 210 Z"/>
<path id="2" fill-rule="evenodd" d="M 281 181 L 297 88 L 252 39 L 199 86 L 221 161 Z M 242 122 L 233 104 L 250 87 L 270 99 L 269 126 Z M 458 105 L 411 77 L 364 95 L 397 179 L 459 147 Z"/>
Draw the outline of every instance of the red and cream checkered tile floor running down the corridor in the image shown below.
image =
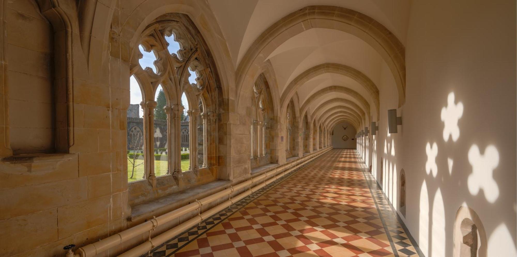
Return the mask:
<path id="1" fill-rule="evenodd" d="M 355 150 L 334 149 L 150 256 L 423 256 Z"/>

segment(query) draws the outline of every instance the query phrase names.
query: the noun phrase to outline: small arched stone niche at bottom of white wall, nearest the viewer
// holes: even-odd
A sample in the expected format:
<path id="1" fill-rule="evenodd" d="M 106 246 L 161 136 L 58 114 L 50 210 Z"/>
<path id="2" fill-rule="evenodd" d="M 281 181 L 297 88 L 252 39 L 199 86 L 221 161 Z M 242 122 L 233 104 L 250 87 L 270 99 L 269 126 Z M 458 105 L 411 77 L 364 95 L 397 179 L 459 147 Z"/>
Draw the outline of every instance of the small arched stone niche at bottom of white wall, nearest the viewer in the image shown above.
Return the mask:
<path id="1" fill-rule="evenodd" d="M 454 220 L 454 257 L 486 257 L 486 233 L 477 213 L 460 206 Z"/>

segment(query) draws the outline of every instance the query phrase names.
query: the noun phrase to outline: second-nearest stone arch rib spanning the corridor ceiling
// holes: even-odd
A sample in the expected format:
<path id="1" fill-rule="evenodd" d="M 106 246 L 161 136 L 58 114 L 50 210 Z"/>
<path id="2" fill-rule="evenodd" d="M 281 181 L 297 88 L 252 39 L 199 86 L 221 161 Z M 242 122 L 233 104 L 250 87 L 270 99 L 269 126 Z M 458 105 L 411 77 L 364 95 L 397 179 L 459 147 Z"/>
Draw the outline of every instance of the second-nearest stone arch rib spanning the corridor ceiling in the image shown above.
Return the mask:
<path id="1" fill-rule="evenodd" d="M 285 99 L 290 99 L 292 95 L 296 93 L 296 90 L 306 82 L 310 81 L 312 78 L 320 76 L 325 73 L 333 73 L 333 74 L 340 74 L 343 76 L 350 77 L 354 79 L 359 85 L 363 86 L 364 89 L 369 93 L 368 99 L 371 101 L 373 106 L 375 107 L 376 117 L 379 119 L 379 90 L 377 89 L 377 86 L 373 83 L 373 81 L 366 75 L 364 75 L 362 72 L 346 66 L 341 65 L 339 63 L 323 63 L 322 65 L 318 65 L 315 67 L 312 67 L 308 69 L 305 72 L 302 72 L 300 75 L 298 75 L 296 78 L 291 81 L 287 85 L 287 87 L 282 92 L 282 97 L 280 99 L 283 99 L 281 106 L 282 109 L 284 109 L 287 105 L 287 102 Z M 364 97 L 363 97 L 364 98 Z M 370 105 L 370 104 L 369 104 Z"/>

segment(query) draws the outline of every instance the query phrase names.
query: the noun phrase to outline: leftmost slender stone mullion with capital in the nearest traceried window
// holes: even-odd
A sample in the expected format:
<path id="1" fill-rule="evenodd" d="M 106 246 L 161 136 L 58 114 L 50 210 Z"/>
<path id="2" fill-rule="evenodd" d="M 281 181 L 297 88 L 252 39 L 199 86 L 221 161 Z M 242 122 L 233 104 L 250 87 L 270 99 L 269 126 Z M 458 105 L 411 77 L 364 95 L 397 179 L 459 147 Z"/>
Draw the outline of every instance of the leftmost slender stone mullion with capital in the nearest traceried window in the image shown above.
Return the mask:
<path id="1" fill-rule="evenodd" d="M 155 154 L 154 154 L 154 124 L 156 101 L 147 101 L 140 104 L 144 110 L 144 167 L 145 174 L 148 174 L 148 181 L 153 187 L 156 184 L 155 175 Z"/>

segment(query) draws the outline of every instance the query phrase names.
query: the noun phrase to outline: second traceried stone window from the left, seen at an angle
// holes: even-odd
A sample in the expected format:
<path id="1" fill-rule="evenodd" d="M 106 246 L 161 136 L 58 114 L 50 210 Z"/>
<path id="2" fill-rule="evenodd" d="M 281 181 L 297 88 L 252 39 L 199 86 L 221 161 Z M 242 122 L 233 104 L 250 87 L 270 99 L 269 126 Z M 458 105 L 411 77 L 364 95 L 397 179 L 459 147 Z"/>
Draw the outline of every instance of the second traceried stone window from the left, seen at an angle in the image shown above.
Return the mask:
<path id="1" fill-rule="evenodd" d="M 269 83 L 264 74 L 258 76 L 251 94 L 250 126 L 250 167 L 256 168 L 276 159 L 275 137 L 271 134 L 277 127 L 275 108 L 271 98 Z"/>

